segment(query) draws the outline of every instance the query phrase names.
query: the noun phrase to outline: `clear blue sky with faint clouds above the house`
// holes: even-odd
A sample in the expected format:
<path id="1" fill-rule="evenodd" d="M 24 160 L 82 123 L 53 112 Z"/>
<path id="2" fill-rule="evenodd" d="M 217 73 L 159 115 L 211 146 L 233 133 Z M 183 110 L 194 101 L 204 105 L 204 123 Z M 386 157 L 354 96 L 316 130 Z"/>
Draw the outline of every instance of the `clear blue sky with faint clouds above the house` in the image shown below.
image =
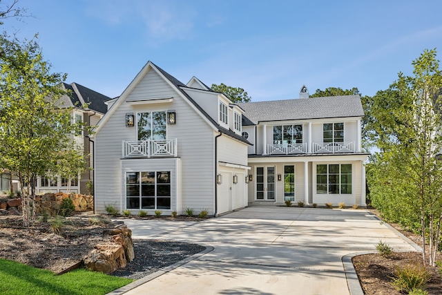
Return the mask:
<path id="1" fill-rule="evenodd" d="M 1 1 L 1 6 L 10 0 Z M 55 72 L 115 97 L 148 60 L 186 83 L 240 86 L 252 101 L 327 87 L 374 95 L 425 48 L 442 54 L 442 1 L 19 0 Z M 0 7 L 1 7 L 0 6 Z"/>

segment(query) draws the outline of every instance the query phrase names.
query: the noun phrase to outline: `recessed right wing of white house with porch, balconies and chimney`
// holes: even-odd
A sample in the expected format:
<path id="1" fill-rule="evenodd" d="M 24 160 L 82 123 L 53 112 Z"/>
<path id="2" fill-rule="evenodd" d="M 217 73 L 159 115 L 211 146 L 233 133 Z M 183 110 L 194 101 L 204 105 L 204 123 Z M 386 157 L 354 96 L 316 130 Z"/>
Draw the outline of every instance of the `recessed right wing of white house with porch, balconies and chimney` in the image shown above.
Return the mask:
<path id="1" fill-rule="evenodd" d="M 249 203 L 365 203 L 359 95 L 238 104 L 248 149 Z"/>

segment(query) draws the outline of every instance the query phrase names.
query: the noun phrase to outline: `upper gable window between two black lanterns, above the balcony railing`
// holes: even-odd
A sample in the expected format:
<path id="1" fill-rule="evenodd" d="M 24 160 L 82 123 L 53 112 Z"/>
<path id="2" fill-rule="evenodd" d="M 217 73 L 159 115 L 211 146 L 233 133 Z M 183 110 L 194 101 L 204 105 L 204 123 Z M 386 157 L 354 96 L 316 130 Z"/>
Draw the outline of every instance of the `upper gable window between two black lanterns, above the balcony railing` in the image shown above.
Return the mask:
<path id="1" fill-rule="evenodd" d="M 166 140 L 166 112 L 137 114 L 137 140 Z"/>

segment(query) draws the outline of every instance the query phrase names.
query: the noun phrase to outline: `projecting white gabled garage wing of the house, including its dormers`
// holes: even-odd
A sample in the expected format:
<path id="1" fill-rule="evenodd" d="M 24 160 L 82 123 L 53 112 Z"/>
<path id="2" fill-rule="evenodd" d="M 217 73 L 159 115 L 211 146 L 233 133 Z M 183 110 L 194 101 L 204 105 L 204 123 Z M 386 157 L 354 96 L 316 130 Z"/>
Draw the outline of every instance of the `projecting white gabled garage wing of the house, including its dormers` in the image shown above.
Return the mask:
<path id="1" fill-rule="evenodd" d="M 183 84 L 148 61 L 95 130 L 95 210 L 218 215 L 247 206 L 243 113 L 197 78 Z"/>

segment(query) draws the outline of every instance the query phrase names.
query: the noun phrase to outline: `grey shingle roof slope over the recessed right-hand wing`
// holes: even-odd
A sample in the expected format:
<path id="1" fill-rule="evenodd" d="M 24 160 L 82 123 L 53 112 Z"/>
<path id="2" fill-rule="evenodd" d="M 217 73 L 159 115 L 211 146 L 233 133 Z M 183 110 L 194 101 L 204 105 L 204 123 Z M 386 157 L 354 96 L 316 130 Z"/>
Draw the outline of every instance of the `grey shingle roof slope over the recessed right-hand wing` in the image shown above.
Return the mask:
<path id="1" fill-rule="evenodd" d="M 282 120 L 307 120 L 333 117 L 363 117 L 359 95 L 309 97 L 239 103 L 244 111 L 244 125 Z"/>

